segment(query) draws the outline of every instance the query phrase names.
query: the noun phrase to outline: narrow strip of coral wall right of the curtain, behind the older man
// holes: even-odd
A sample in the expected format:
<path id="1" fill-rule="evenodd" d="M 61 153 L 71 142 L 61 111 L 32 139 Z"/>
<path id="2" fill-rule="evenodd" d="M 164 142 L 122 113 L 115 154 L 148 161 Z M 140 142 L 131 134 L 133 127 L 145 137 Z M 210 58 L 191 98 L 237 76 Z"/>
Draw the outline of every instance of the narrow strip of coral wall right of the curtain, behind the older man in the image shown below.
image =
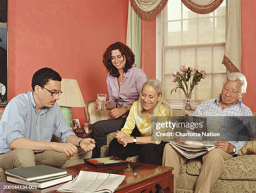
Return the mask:
<path id="1" fill-rule="evenodd" d="M 243 103 L 256 112 L 256 4 L 255 0 L 241 0 L 241 34 L 242 34 L 242 60 L 241 72 L 246 76 L 248 86 L 247 93 L 243 97 Z"/>

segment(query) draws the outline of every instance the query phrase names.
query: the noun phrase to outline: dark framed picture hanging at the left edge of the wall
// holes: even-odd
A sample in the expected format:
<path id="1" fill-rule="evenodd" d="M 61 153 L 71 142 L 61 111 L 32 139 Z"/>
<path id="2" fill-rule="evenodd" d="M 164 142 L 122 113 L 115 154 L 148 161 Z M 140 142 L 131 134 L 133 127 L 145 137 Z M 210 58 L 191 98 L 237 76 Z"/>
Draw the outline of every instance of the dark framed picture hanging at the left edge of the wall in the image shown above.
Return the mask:
<path id="1" fill-rule="evenodd" d="M 8 0 L 0 0 L 0 106 L 8 101 L 7 15 Z"/>

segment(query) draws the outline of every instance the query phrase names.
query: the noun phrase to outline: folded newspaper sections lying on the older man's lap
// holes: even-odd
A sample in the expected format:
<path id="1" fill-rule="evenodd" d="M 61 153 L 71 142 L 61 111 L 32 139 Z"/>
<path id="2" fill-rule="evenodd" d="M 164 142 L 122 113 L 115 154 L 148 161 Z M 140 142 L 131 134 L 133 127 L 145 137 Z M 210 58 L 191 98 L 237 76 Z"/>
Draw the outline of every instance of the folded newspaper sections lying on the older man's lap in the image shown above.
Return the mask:
<path id="1" fill-rule="evenodd" d="M 217 147 L 215 146 L 215 142 L 205 143 L 205 142 L 197 142 L 197 141 L 187 141 L 187 142 L 170 142 L 170 144 L 175 150 L 180 152 L 182 155 L 184 155 L 188 159 L 192 159 L 200 155 L 204 155 L 205 153 Z"/>

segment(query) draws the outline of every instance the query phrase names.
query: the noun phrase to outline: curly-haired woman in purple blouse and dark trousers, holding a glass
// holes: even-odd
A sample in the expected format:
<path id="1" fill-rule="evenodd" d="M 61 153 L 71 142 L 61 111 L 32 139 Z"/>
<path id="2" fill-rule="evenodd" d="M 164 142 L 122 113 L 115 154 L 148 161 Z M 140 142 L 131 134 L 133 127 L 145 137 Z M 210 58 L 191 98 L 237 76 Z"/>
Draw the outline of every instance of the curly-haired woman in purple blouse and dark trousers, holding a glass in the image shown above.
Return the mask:
<path id="1" fill-rule="evenodd" d="M 106 102 L 106 108 L 110 110 L 112 119 L 98 121 L 92 125 L 92 135 L 97 147 L 93 157 L 99 157 L 100 147 L 106 145 L 109 133 L 123 128 L 131 105 L 138 100 L 142 85 L 147 80 L 146 74 L 135 67 L 134 61 L 135 55 L 132 50 L 121 42 L 108 46 L 103 55 L 103 63 L 109 73 L 109 101 Z"/>

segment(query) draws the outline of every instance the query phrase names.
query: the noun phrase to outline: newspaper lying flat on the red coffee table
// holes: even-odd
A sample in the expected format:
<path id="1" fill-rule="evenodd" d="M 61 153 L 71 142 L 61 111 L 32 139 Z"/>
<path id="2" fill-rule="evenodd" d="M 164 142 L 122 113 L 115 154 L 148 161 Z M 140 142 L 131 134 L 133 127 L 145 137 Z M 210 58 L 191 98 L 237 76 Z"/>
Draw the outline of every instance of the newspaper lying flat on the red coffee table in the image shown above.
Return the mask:
<path id="1" fill-rule="evenodd" d="M 80 171 L 74 180 L 57 189 L 57 192 L 103 193 L 114 192 L 125 175 Z"/>

